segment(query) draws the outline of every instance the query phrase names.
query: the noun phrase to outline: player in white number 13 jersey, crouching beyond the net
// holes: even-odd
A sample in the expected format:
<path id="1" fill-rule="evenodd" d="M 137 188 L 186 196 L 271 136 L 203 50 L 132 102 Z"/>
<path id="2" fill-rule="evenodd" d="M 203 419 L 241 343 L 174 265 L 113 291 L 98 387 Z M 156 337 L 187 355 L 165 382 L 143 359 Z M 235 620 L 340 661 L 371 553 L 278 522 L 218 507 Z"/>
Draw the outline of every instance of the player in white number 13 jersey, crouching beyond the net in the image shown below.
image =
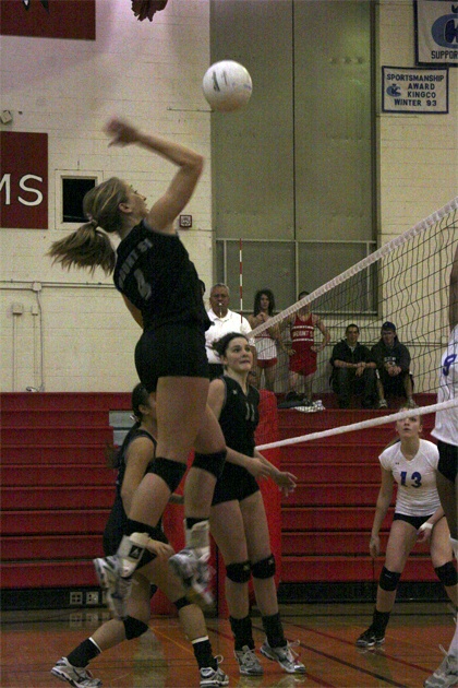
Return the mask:
<path id="1" fill-rule="evenodd" d="M 395 515 L 378 580 L 377 600 L 371 626 L 357 640 L 360 648 L 385 642 L 385 629 L 396 598 L 399 579 L 417 542 L 429 542 L 431 560 L 447 595 L 458 602 L 458 577 L 449 544 L 449 531 L 436 489 L 437 447 L 420 438 L 421 417 L 396 423 L 400 441 L 385 449 L 379 462 L 382 485 L 375 509 L 369 549 L 375 559 L 381 551 L 379 530 L 398 485 Z"/>

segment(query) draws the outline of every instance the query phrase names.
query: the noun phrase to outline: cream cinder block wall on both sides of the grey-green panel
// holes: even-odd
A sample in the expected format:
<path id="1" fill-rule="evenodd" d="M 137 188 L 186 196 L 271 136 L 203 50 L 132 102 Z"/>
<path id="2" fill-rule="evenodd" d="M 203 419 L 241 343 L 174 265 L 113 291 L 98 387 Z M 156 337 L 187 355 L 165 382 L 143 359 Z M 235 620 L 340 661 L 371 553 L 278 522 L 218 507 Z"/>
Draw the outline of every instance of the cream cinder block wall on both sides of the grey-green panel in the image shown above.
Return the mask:
<path id="1" fill-rule="evenodd" d="M 2 36 L 0 58 L 0 107 L 14 116 L 1 129 L 49 135 L 49 230 L 0 234 L 1 389 L 129 391 L 136 382 L 138 329 L 111 278 L 99 271 L 93 277 L 65 273 L 45 257 L 64 232 L 59 180 L 65 173 L 99 173 L 125 177 L 152 199 L 164 191 L 171 166 L 138 149 L 107 147 L 101 127 L 112 114 L 202 152 L 205 175 L 185 211 L 193 229 L 181 236 L 209 287 L 210 120 L 201 92 L 209 63 L 209 0 L 169 0 L 153 24 L 137 22 L 126 0 L 97 0 L 95 43 Z M 456 195 L 458 69 L 449 70 L 449 115 L 387 115 L 381 112 L 382 64 L 414 66 L 411 0 L 377 5 L 377 203 L 384 244 Z M 24 312 L 13 315 L 13 304 Z"/>

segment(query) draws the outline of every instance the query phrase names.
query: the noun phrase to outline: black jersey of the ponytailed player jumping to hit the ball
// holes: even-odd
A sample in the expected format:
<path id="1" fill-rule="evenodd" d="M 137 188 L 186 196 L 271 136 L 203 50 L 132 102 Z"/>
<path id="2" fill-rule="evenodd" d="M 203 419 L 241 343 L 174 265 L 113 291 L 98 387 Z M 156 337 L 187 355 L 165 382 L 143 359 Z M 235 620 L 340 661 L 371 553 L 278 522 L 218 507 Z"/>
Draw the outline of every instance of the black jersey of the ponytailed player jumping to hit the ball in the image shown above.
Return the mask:
<path id="1" fill-rule="evenodd" d="M 186 321 L 209 328 L 197 272 L 178 235 L 153 232 L 142 221 L 117 254 L 114 285 L 141 310 L 145 330 Z"/>

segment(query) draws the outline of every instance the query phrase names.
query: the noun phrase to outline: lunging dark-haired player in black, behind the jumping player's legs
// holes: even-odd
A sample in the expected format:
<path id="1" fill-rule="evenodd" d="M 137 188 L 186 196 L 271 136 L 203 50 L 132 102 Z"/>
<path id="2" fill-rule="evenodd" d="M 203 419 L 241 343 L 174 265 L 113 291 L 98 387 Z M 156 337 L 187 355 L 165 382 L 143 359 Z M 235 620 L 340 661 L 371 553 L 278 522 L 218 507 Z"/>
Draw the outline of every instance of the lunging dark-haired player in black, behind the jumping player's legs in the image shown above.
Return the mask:
<path id="1" fill-rule="evenodd" d="M 123 536 L 128 520 L 126 510 L 132 501 L 132 495 L 155 456 L 154 435 L 157 429 L 155 408 L 150 405 L 149 395 L 142 384 L 137 384 L 132 392 L 132 408 L 136 423 L 111 461 L 112 467 L 118 468 L 118 478 L 114 503 L 104 532 L 106 555 L 117 551 Z M 172 495 L 170 501 L 180 501 L 180 497 Z M 159 527 L 157 537 L 154 544 L 156 557 L 134 573 L 135 585 L 128 601 L 126 618 L 110 619 L 103 624 L 91 638 L 86 638 L 65 657 L 61 657 L 51 669 L 53 676 L 74 687 L 101 686 L 100 679 L 94 678 L 87 671 L 87 665 L 100 652 L 114 648 L 124 640 L 138 638 L 148 630 L 150 597 L 157 589 L 154 583 L 157 583 L 177 606 L 183 631 L 193 645 L 200 668 L 201 686 L 228 684 L 227 676 L 218 667 L 218 660 L 213 656 L 202 609 L 186 600 L 181 582 L 168 571 L 167 560 L 173 550 L 168 545 L 166 534 Z"/>

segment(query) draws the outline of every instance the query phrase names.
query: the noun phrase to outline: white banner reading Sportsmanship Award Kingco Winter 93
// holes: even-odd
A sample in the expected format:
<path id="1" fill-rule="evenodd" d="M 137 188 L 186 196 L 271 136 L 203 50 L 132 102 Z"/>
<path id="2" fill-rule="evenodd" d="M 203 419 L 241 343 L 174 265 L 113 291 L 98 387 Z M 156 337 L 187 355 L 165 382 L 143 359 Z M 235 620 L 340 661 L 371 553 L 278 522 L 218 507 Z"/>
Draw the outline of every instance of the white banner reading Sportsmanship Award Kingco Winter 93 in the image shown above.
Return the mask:
<path id="1" fill-rule="evenodd" d="M 382 67 L 382 110 L 446 115 L 448 69 L 436 67 Z"/>

